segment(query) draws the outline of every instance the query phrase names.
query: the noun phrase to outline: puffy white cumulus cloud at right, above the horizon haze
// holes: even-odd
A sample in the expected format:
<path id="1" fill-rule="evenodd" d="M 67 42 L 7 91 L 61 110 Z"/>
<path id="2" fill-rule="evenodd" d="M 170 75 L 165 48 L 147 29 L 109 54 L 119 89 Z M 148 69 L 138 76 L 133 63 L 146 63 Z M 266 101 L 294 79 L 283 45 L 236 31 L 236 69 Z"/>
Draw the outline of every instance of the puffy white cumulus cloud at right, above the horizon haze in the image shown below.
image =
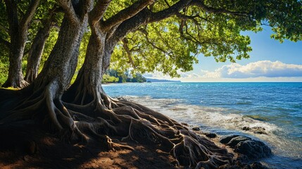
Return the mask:
<path id="1" fill-rule="evenodd" d="M 250 78 L 250 77 L 302 77 L 302 65 L 286 64 L 280 61 L 257 61 L 247 65 L 232 63 L 215 71 L 201 70 L 201 77 Z"/>

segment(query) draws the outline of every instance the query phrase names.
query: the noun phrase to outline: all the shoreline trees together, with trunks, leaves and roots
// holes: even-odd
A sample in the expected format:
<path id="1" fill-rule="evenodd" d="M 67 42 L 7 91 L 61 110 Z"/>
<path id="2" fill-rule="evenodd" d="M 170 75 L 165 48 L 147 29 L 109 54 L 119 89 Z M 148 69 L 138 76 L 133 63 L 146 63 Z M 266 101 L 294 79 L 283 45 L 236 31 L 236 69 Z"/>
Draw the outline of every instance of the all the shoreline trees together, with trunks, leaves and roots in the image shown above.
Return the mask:
<path id="1" fill-rule="evenodd" d="M 250 39 L 241 32 L 265 25 L 275 39 L 301 40 L 301 6 L 294 0 L 1 1 L 2 87 L 19 88 L 0 89 L 1 130 L 39 129 L 106 151 L 150 144 L 177 166 L 237 165 L 234 154 L 187 125 L 111 98 L 102 77 L 109 66 L 179 77 L 193 69 L 197 54 L 222 62 L 248 58 Z"/>

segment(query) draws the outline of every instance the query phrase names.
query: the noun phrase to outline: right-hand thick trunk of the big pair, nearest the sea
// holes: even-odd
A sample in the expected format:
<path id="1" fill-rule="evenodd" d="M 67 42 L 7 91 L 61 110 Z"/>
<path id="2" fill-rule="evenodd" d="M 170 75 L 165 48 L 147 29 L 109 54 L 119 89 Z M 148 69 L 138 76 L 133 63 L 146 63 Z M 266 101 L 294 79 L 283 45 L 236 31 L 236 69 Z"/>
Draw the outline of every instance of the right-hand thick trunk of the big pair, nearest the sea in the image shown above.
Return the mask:
<path id="1" fill-rule="evenodd" d="M 92 32 L 87 46 L 84 64 L 80 69 L 74 84 L 68 89 L 64 100 L 74 104 L 87 104 L 91 101 L 101 101 L 101 80 L 103 49 L 106 35 Z M 75 95 L 76 94 L 76 95 Z"/>

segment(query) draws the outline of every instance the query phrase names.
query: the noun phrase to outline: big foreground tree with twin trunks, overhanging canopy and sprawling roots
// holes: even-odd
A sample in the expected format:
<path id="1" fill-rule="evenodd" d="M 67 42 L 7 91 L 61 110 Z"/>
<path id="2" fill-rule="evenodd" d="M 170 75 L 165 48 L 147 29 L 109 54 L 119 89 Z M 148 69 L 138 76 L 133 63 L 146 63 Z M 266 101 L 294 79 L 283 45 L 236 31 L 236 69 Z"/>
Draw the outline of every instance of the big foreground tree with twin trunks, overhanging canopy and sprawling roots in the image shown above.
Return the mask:
<path id="1" fill-rule="evenodd" d="M 177 70 L 192 69 L 196 54 L 216 61 L 248 58 L 250 40 L 240 32 L 259 31 L 263 21 L 277 39 L 300 40 L 302 35 L 302 4 L 292 0 L 278 5 L 260 0 L 58 0 L 58 5 L 65 15 L 54 49 L 32 84 L 0 90 L 5 96 L 0 124 L 33 119 L 61 137 L 97 140 L 106 149 L 123 147 L 110 137 L 149 142 L 172 154 L 179 165 L 197 168 L 232 164 L 233 156 L 161 113 L 108 96 L 101 80 L 111 56 L 114 67 L 177 76 Z M 84 64 L 70 86 L 87 22 L 91 35 Z"/>

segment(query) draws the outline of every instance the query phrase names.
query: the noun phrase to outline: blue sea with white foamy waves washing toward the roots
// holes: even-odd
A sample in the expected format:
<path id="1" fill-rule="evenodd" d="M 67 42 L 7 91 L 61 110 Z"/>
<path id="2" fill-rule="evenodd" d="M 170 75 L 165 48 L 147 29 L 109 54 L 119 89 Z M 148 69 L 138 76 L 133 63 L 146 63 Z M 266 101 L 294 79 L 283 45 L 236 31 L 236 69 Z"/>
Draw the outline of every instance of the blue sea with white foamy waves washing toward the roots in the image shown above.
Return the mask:
<path id="1" fill-rule="evenodd" d="M 302 168 L 302 82 L 125 83 L 103 89 L 204 132 L 263 141 L 274 154 L 260 160 L 269 168 Z M 263 127 L 266 134 L 243 127 Z"/>

